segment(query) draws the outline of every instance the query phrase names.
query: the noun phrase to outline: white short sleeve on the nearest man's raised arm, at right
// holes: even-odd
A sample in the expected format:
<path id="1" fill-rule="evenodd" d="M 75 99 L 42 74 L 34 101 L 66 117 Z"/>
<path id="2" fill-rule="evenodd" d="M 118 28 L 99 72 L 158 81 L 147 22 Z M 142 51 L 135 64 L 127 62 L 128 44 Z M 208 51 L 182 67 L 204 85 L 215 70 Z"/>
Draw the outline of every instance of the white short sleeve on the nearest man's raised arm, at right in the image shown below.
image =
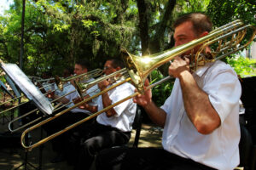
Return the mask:
<path id="1" fill-rule="evenodd" d="M 241 85 L 236 72 L 230 69 L 214 69 L 202 88 L 218 112 L 221 122 L 236 108 L 241 96 Z"/>

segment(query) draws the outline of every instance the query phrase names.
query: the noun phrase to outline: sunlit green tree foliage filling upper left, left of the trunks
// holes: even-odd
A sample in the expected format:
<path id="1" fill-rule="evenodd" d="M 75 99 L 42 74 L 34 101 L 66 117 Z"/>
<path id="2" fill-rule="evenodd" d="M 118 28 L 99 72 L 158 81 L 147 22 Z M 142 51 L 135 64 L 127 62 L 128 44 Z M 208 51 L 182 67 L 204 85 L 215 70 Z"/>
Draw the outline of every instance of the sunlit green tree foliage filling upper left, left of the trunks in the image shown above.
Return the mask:
<path id="1" fill-rule="evenodd" d="M 20 57 L 21 1 L 15 0 L 0 16 L 0 59 L 17 63 Z M 128 4 L 131 4 L 131 8 Z M 136 34 L 134 1 L 26 0 L 24 71 L 61 75 L 77 59 L 87 58 L 92 68 L 118 57 L 119 47 L 132 47 Z M 134 38 L 136 40 L 137 38 Z"/>

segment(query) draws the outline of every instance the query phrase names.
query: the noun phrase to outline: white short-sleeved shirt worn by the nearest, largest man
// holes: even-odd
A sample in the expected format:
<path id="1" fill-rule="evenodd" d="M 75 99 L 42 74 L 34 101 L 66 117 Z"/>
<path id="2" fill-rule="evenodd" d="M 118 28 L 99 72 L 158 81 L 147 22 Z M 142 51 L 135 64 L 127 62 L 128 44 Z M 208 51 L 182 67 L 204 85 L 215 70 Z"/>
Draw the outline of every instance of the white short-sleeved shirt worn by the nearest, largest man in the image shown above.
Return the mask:
<path id="1" fill-rule="evenodd" d="M 171 96 L 161 108 L 166 111 L 162 144 L 178 156 L 217 169 L 234 169 L 239 164 L 239 99 L 241 85 L 236 72 L 222 61 L 209 63 L 193 74 L 198 86 L 218 112 L 221 125 L 212 133 L 198 133 L 184 109 L 182 89 L 176 79 Z"/>

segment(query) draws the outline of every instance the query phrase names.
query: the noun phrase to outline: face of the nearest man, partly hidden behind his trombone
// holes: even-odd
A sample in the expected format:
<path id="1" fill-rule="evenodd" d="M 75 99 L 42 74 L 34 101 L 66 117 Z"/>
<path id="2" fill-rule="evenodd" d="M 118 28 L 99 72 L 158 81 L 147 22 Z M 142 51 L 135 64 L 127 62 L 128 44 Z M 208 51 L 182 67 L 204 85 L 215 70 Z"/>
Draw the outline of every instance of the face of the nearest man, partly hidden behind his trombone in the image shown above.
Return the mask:
<path id="1" fill-rule="evenodd" d="M 198 37 L 195 36 L 192 22 L 186 21 L 183 24 L 177 26 L 174 31 L 175 47 L 183 45 L 184 43 L 191 42 Z M 197 48 L 194 48 L 194 54 Z M 190 54 L 190 50 L 184 53 Z"/>

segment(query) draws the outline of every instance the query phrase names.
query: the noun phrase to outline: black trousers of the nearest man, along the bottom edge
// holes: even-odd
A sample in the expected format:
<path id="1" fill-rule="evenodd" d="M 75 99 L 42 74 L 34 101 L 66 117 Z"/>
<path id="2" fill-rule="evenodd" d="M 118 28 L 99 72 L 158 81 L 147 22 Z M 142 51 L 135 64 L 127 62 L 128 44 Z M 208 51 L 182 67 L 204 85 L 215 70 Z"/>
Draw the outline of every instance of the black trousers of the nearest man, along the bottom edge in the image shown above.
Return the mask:
<path id="1" fill-rule="evenodd" d="M 211 170 L 158 148 L 113 148 L 96 156 L 96 170 Z"/>

